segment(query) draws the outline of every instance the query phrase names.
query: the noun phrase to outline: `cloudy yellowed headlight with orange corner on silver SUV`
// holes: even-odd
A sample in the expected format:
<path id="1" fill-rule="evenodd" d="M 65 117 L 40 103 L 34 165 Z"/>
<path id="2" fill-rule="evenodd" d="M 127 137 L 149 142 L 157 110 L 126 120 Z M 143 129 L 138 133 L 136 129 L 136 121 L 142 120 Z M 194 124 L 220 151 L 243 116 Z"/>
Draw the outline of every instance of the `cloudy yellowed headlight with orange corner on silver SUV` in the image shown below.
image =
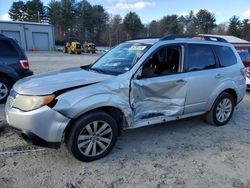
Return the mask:
<path id="1" fill-rule="evenodd" d="M 23 111 L 31 111 L 49 104 L 55 98 L 55 95 L 47 96 L 25 96 L 17 95 L 13 101 L 12 107 Z"/>

